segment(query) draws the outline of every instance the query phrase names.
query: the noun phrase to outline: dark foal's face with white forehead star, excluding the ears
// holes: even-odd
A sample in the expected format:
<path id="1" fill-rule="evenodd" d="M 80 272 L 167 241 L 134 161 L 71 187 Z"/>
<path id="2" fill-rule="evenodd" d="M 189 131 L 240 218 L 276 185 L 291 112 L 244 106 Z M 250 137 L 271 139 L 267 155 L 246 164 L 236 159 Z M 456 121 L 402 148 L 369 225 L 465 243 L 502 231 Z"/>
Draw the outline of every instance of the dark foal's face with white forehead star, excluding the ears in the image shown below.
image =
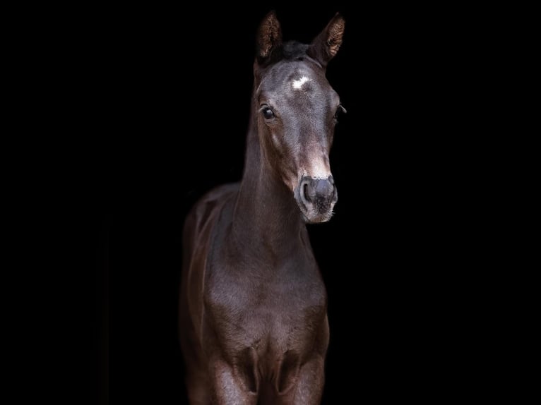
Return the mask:
<path id="1" fill-rule="evenodd" d="M 256 92 L 263 155 L 292 191 L 306 222 L 331 218 L 338 193 L 329 152 L 343 107 L 309 58 L 268 69 Z"/>

